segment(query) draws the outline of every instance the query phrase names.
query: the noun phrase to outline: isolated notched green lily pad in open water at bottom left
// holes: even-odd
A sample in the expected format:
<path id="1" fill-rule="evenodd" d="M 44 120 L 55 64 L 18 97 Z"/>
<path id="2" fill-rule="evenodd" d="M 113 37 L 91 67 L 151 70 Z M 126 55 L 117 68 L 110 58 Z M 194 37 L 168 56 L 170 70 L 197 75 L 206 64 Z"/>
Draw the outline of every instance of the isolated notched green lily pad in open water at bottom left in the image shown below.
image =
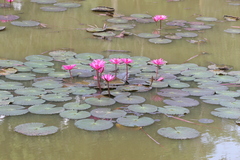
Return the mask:
<path id="1" fill-rule="evenodd" d="M 27 136 L 46 136 L 49 134 L 54 134 L 58 131 L 58 127 L 44 126 L 44 123 L 25 123 L 16 126 L 14 131 Z"/>

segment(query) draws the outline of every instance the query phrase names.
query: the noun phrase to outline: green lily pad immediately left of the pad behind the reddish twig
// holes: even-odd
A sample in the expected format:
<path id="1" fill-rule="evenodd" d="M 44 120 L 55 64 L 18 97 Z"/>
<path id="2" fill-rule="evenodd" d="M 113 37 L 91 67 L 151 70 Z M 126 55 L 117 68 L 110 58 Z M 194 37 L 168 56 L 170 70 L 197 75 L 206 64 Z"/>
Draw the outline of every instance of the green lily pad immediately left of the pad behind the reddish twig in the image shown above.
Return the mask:
<path id="1" fill-rule="evenodd" d="M 138 113 L 152 113 L 157 111 L 157 106 L 151 104 L 129 105 L 128 109 Z"/>

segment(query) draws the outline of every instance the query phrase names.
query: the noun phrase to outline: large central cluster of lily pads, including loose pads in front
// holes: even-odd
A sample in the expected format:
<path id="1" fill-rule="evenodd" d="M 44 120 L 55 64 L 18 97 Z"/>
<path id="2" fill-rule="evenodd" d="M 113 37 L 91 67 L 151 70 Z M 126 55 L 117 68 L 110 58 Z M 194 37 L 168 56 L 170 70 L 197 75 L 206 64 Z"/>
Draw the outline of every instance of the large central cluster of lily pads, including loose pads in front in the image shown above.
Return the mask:
<path id="1" fill-rule="evenodd" d="M 116 74 L 111 58 L 131 58 L 129 78 L 126 80 L 125 65 L 118 65 L 117 78 L 110 82 L 111 96 L 107 91 L 99 93 L 94 70 L 90 63 L 94 59 L 106 62 L 104 74 Z M 211 114 L 221 118 L 238 119 L 240 115 L 240 91 L 230 91 L 230 83 L 237 84 L 240 72 L 231 71 L 216 75 L 206 67 L 193 63 L 167 64 L 161 66 L 155 80 L 156 65 L 150 58 L 115 53 L 104 57 L 97 53 L 75 53 L 56 50 L 47 55 L 30 55 L 25 62 L 0 60 L 0 115 L 17 116 L 24 114 L 59 114 L 64 119 L 75 121 L 75 126 L 88 131 L 102 131 L 118 123 L 126 127 L 145 127 L 157 120 L 151 114 L 174 117 L 189 114 L 188 107 L 196 107 L 199 101 L 218 105 Z M 61 64 L 76 64 L 70 73 Z M 28 85 L 24 85 L 28 82 Z M 196 86 L 197 85 L 197 86 Z M 101 88 L 107 89 L 101 81 Z M 136 92 L 157 89 L 155 96 L 166 105 L 145 103 L 146 98 Z M 196 98 L 194 98 L 196 97 Z M 200 97 L 200 98 L 197 98 Z M 59 105 L 58 102 L 61 102 Z M 119 105 L 123 105 L 119 107 Z M 118 106 L 118 107 L 116 107 Z M 201 119 L 200 123 L 212 123 L 211 119 Z M 40 136 L 56 133 L 58 127 L 40 122 L 20 124 L 15 131 Z M 160 128 L 157 132 L 172 139 L 190 139 L 200 132 L 189 127 Z"/>

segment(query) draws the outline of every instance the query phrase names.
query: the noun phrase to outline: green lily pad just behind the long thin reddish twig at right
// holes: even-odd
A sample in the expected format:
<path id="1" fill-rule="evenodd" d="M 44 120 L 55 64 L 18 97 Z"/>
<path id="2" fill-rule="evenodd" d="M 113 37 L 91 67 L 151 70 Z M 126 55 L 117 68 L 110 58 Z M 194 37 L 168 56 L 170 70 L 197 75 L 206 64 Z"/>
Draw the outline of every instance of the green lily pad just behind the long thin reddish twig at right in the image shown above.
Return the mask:
<path id="1" fill-rule="evenodd" d="M 180 106 L 163 106 L 158 107 L 158 112 L 170 115 L 185 115 L 188 114 L 190 111 L 187 108 L 183 108 Z"/>

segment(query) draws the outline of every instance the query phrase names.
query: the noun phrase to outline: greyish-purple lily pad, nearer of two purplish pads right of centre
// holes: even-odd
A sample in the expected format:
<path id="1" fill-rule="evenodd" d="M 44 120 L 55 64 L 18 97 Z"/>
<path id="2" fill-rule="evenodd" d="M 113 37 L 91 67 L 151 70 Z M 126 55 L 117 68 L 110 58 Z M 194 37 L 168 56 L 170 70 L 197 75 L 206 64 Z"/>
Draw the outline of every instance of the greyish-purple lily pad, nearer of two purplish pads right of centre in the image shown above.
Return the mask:
<path id="1" fill-rule="evenodd" d="M 193 107 L 199 105 L 199 102 L 192 98 L 172 98 L 163 100 L 164 103 L 172 106 Z"/>

